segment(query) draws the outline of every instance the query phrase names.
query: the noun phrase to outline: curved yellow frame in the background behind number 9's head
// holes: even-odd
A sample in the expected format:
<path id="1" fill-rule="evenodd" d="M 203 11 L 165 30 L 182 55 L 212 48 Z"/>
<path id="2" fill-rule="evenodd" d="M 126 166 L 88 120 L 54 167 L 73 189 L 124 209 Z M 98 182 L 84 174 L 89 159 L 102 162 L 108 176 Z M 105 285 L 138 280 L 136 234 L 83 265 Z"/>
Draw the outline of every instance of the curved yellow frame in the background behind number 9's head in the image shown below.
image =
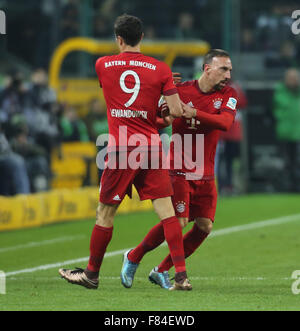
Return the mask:
<path id="1" fill-rule="evenodd" d="M 142 43 L 141 51 L 150 56 L 159 57 L 172 67 L 178 56 L 203 56 L 210 49 L 207 42 L 147 42 Z M 91 99 L 103 100 L 102 92 L 97 79 L 66 79 L 61 78 L 63 61 L 68 54 L 74 51 L 87 52 L 93 55 L 117 54 L 117 45 L 113 41 L 99 41 L 90 38 L 71 38 L 61 43 L 54 51 L 49 68 L 49 83 L 58 95 L 58 100 L 79 108 Z"/>

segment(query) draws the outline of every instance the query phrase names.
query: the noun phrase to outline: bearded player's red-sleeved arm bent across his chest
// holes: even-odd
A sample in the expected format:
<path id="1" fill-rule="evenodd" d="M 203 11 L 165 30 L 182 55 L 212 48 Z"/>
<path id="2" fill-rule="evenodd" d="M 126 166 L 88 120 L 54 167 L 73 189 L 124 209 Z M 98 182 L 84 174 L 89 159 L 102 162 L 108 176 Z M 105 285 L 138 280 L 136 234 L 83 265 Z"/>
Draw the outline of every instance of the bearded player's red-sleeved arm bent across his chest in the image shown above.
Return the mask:
<path id="1" fill-rule="evenodd" d="M 183 117 L 195 118 L 205 126 L 222 131 L 228 131 L 234 122 L 235 114 L 230 111 L 223 111 L 219 114 L 208 114 L 189 105 L 182 103 Z"/>

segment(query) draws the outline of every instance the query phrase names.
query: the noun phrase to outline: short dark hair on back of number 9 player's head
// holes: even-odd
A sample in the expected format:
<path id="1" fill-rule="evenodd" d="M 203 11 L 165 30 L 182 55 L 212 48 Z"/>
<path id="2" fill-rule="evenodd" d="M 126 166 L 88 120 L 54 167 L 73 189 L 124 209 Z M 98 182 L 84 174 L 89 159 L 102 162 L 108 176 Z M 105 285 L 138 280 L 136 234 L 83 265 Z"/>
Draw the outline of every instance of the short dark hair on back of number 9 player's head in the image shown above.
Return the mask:
<path id="1" fill-rule="evenodd" d="M 116 37 L 122 37 L 127 45 L 134 47 L 142 39 L 143 23 L 138 17 L 124 14 L 116 19 L 114 31 Z"/>

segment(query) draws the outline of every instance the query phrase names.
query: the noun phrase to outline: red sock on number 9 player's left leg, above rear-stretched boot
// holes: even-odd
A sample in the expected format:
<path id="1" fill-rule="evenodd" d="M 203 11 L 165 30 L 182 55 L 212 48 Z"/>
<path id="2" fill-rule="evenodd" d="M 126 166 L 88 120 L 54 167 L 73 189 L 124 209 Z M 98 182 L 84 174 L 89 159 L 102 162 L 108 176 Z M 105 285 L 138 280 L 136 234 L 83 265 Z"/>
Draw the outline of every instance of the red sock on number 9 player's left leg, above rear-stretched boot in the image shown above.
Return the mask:
<path id="1" fill-rule="evenodd" d="M 90 241 L 90 259 L 87 269 L 99 274 L 106 248 L 111 240 L 113 227 L 105 228 L 95 225 Z"/>

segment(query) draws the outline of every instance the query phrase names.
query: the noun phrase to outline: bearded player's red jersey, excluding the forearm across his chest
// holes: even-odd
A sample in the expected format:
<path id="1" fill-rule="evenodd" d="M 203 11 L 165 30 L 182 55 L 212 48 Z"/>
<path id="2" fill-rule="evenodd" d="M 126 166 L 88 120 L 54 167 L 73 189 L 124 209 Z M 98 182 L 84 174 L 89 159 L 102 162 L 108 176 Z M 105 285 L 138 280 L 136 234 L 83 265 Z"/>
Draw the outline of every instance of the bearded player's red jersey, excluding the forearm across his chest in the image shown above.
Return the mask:
<path id="1" fill-rule="evenodd" d="M 220 91 L 203 93 L 199 88 L 198 80 L 180 83 L 176 86 L 180 99 L 193 108 L 209 114 L 220 114 L 222 112 L 230 112 L 233 116 L 236 114 L 237 96 L 232 87 L 225 86 Z M 188 143 L 187 148 L 181 149 L 176 147 L 175 142 L 171 142 L 170 159 L 172 172 L 182 175 L 189 173 L 191 175 L 191 173 L 196 173 L 197 170 L 202 168 L 197 174 L 200 174 L 200 176 L 203 175 L 203 180 L 213 180 L 216 147 L 220 132 L 220 130 L 212 129 L 201 124 L 201 121 L 197 120 L 197 118 L 176 118 L 172 126 L 173 136 L 175 134 L 180 135 L 182 141 L 184 139 L 191 139 L 191 143 Z M 203 140 L 202 143 L 198 141 L 197 146 L 196 139 L 197 136 L 199 137 L 199 134 L 204 134 L 202 136 L 204 137 L 204 142 Z M 182 146 L 184 146 L 183 143 Z M 202 165 L 197 164 L 198 169 L 196 166 L 191 169 L 197 161 L 196 148 L 198 148 L 198 153 L 204 152 Z M 184 162 L 182 162 L 181 169 L 178 169 L 178 164 L 180 165 L 178 161 L 180 159 Z M 195 179 L 200 179 L 197 177 Z M 192 178 L 190 177 L 190 179 Z"/>

